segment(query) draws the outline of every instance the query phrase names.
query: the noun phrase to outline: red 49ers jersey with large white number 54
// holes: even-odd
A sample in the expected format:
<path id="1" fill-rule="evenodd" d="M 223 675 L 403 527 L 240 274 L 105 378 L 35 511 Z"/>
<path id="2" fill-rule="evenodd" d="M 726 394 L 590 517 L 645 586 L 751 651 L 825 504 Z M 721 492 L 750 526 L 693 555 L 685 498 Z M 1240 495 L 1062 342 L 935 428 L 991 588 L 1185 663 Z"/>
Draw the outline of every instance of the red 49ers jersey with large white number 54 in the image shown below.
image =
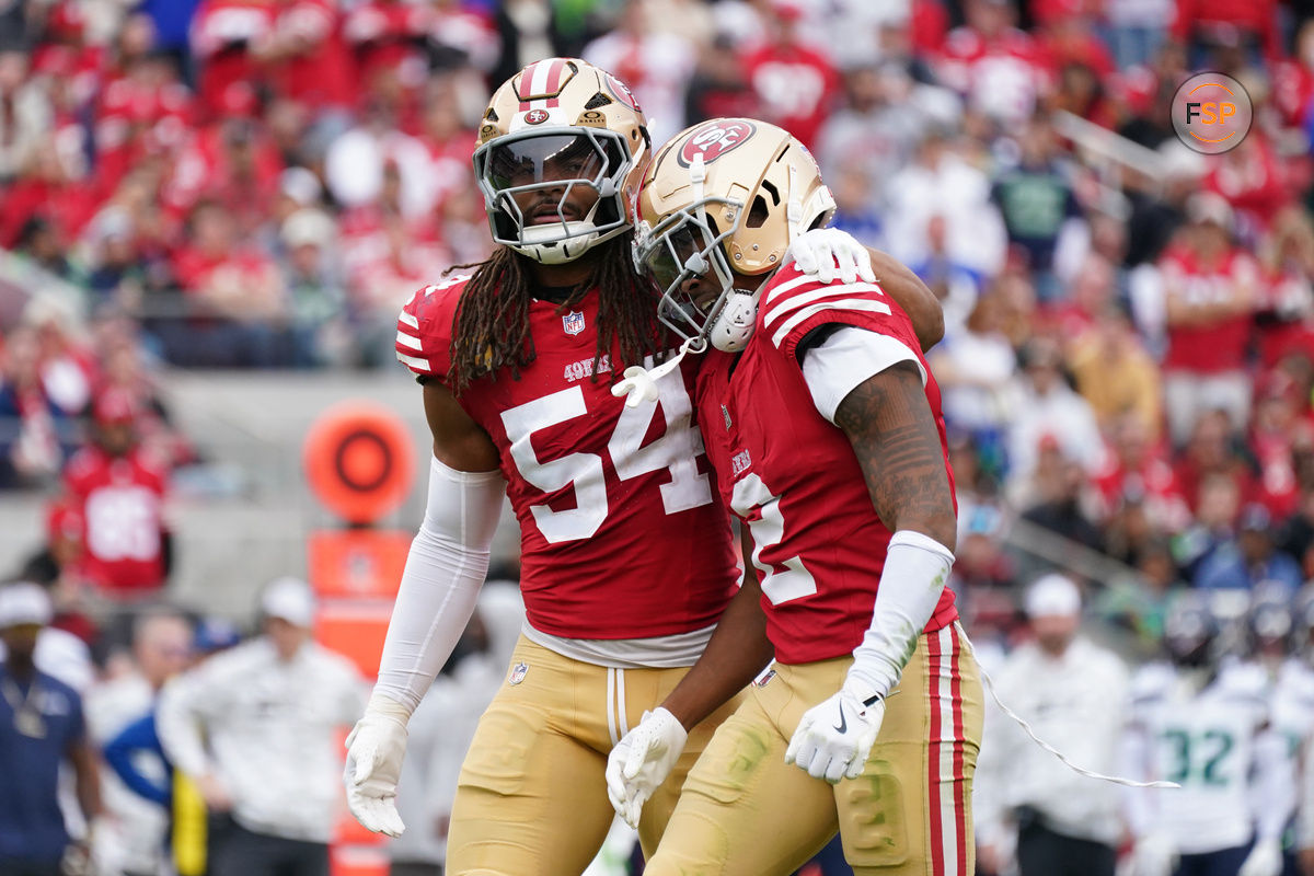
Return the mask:
<path id="1" fill-rule="evenodd" d="M 447 380 L 466 277 L 424 286 L 402 310 L 397 353 Z M 708 626 L 737 577 L 729 519 L 692 422 L 695 368 L 658 381 L 656 405 L 594 381 L 598 302 L 530 306 L 536 359 L 470 383 L 461 407 L 501 456 L 520 521 L 520 590 L 535 629 L 570 638 L 644 638 Z"/>

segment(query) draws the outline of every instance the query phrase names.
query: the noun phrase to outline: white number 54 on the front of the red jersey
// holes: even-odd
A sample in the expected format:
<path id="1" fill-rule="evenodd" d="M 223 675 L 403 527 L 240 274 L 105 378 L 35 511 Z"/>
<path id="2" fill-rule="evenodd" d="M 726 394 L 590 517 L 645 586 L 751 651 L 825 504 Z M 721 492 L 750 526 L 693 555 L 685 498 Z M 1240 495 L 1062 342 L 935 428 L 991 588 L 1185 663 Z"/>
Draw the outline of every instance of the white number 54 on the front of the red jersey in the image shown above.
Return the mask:
<path id="1" fill-rule="evenodd" d="M 657 405 L 622 407 L 616 428 L 607 441 L 607 453 L 620 479 L 636 478 L 650 471 L 670 471 L 670 482 L 661 485 L 666 514 L 689 511 L 712 500 L 707 475 L 698 470 L 703 437 L 690 424 L 691 405 L 685 381 L 673 372 L 657 381 L 666 431 L 644 444 L 644 436 L 657 415 Z M 568 453 L 543 462 L 533 452 L 531 436 L 549 426 L 587 416 L 583 389 L 572 386 L 560 393 L 519 405 L 502 412 L 502 426 L 511 443 L 511 458 L 527 482 L 544 493 L 557 493 L 574 485 L 576 507 L 553 511 L 547 503 L 531 507 L 539 532 L 551 544 L 589 538 L 607 519 L 607 485 L 602 457 L 597 453 Z"/>

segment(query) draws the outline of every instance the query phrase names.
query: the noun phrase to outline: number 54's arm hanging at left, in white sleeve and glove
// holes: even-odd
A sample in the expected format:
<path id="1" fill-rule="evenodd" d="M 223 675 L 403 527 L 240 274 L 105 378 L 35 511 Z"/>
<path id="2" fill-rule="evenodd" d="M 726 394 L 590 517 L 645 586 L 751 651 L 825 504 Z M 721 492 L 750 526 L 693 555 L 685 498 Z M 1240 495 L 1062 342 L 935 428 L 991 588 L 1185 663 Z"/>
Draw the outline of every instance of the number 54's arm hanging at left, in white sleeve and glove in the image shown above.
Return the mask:
<path id="1" fill-rule="evenodd" d="M 474 612 L 506 495 L 497 447 L 445 387 L 424 385 L 424 412 L 434 433 L 424 521 L 406 557 L 378 682 L 347 737 L 343 775 L 351 813 L 390 837 L 405 830 L 396 799 L 406 724 Z"/>

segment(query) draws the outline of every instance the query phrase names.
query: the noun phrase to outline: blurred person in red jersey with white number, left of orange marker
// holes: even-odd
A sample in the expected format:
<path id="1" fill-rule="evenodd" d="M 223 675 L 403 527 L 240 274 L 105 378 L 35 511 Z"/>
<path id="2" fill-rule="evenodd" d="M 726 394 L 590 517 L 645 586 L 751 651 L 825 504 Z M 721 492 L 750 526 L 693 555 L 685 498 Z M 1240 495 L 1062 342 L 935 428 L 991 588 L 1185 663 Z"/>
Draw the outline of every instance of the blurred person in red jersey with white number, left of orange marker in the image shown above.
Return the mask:
<path id="1" fill-rule="evenodd" d="M 141 452 L 138 407 L 124 390 L 92 402 L 93 440 L 68 461 L 64 490 L 85 525 L 85 571 L 116 602 L 139 602 L 164 587 L 167 475 Z"/>

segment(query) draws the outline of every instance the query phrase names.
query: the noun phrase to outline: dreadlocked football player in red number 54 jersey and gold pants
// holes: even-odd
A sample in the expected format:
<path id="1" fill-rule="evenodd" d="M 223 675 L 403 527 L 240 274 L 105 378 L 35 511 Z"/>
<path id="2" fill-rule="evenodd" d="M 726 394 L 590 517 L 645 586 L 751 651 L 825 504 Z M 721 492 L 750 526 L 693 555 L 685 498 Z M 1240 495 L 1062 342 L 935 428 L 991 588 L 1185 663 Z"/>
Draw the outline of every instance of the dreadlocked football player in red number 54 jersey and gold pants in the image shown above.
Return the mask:
<path id="1" fill-rule="evenodd" d="M 378 683 L 348 741 L 348 802 L 367 827 L 403 827 L 393 801 L 406 721 L 470 616 L 503 495 L 522 535 L 527 623 L 461 770 L 455 873 L 585 868 L 614 817 L 607 753 L 696 661 L 735 588 L 692 365 L 637 407 L 610 391 L 614 370 L 673 345 L 629 256 L 625 180 L 648 150 L 644 116 L 614 76 L 569 58 L 526 67 L 494 93 L 474 150 L 497 251 L 473 276 L 420 289 L 399 317 L 398 357 L 423 383 L 434 458 Z M 909 281 L 903 293 L 936 340 L 929 290 Z M 735 655 L 717 696 L 769 658 Z M 729 711 L 691 725 L 639 823 L 646 850 Z"/>

